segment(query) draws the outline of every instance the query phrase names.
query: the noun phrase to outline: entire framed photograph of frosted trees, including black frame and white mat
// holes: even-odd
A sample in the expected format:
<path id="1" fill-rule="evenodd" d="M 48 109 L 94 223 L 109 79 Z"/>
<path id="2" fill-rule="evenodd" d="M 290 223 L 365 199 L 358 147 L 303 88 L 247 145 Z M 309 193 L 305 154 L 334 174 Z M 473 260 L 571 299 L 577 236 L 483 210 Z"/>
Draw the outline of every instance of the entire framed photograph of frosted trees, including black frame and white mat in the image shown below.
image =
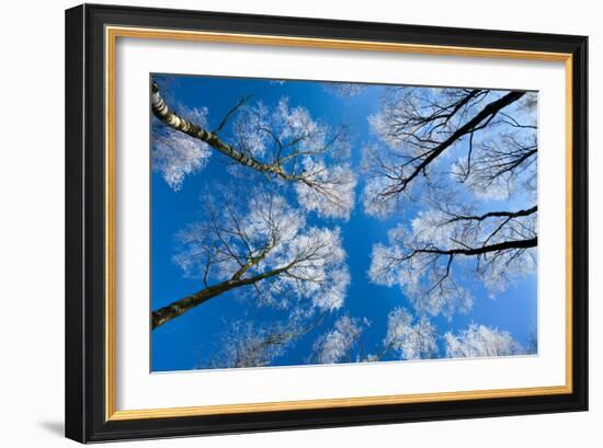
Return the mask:
<path id="1" fill-rule="evenodd" d="M 585 411 L 587 43 L 67 10 L 67 437 Z"/>

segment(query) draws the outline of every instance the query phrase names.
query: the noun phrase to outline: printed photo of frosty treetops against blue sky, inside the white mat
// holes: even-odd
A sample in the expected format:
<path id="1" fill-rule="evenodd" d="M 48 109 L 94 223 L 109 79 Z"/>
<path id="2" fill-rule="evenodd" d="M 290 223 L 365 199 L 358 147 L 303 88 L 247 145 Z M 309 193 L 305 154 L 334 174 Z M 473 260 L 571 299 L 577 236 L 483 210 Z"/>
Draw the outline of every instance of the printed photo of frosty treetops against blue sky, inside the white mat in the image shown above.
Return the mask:
<path id="1" fill-rule="evenodd" d="M 149 91 L 151 371 L 538 354 L 537 92 Z"/>

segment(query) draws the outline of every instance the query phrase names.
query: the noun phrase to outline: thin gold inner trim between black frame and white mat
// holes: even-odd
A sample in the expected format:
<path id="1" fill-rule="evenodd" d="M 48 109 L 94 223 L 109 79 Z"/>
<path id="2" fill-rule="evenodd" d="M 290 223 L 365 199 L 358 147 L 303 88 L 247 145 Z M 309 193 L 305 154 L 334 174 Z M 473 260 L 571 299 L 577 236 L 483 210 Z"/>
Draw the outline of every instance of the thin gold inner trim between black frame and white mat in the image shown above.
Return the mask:
<path id="1" fill-rule="evenodd" d="M 343 399 L 261 402 L 190 407 L 143 410 L 115 409 L 115 45 L 118 37 L 171 39 L 244 45 L 270 45 L 321 49 L 407 53 L 439 56 L 528 59 L 565 62 L 566 71 L 566 383 L 553 387 L 492 389 L 401 395 L 351 397 Z M 398 44 L 350 39 L 217 33 L 203 31 L 105 27 L 105 418 L 126 421 L 141 418 L 224 415 L 250 412 L 318 410 L 383 404 L 425 403 L 453 400 L 537 397 L 572 392 L 572 56 L 565 53 L 511 50 L 499 48 L 454 47 L 441 45 Z"/>

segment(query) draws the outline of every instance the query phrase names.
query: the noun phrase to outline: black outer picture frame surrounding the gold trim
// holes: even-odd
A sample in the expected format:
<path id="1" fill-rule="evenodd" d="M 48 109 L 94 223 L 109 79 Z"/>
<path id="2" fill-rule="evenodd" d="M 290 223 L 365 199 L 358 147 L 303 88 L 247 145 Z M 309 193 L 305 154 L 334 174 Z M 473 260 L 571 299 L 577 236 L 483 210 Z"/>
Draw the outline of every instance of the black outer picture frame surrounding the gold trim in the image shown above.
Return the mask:
<path id="1" fill-rule="evenodd" d="M 571 393 L 106 418 L 105 26 L 566 53 L 572 57 Z M 588 38 L 84 4 L 66 11 L 66 436 L 81 443 L 588 410 Z"/>

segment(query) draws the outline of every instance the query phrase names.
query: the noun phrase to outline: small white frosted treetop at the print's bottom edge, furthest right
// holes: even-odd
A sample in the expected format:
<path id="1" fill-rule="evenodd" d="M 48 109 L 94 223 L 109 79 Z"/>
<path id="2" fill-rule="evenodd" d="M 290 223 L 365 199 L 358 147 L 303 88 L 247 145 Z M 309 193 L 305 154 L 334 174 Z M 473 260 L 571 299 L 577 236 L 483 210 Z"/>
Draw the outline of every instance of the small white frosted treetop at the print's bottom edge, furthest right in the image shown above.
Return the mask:
<path id="1" fill-rule="evenodd" d="M 511 334 L 485 325 L 471 324 L 458 335 L 444 336 L 448 358 L 477 358 L 522 355 L 525 351 Z"/>

